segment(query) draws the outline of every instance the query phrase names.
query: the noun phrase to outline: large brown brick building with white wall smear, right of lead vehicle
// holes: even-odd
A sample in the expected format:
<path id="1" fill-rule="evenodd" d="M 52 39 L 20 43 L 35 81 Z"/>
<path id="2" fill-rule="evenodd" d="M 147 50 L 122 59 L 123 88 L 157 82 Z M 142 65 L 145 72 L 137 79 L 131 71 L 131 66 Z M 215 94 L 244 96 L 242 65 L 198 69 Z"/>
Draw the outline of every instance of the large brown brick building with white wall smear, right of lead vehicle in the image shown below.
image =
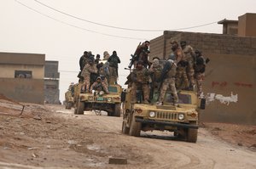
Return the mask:
<path id="1" fill-rule="evenodd" d="M 225 23 L 225 22 L 223 22 Z M 167 59 L 171 39 L 186 41 L 210 59 L 203 91 L 212 102 L 201 113 L 201 121 L 256 125 L 256 14 L 239 17 L 234 25 L 224 25 L 224 34 L 164 31 L 150 41 L 149 59 Z M 233 23 L 234 24 L 234 23 Z M 211 101 L 211 100 L 210 100 Z"/>

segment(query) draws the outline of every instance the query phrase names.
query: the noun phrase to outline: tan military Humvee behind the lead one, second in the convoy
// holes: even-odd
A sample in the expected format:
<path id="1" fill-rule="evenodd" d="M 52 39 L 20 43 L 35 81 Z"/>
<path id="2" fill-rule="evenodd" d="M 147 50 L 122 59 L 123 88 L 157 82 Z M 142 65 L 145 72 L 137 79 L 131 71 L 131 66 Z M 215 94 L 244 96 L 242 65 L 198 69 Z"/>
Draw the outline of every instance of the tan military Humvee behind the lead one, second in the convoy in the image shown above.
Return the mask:
<path id="1" fill-rule="evenodd" d="M 120 85 L 109 85 L 108 94 L 79 93 L 75 103 L 74 114 L 83 115 L 84 110 L 104 110 L 108 116 L 120 116 L 121 93 Z"/>

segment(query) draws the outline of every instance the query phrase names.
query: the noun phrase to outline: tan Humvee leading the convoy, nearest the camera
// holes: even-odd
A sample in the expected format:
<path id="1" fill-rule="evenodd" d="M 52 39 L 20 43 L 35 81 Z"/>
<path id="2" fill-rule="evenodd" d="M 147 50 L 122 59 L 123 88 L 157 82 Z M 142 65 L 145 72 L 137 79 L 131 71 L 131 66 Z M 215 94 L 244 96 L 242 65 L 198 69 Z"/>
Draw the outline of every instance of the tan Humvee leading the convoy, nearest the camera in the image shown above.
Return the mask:
<path id="1" fill-rule="evenodd" d="M 122 132 L 138 137 L 141 131 L 166 130 L 174 132 L 177 138 L 195 143 L 199 109 L 204 109 L 205 100 L 198 99 L 193 91 L 180 91 L 177 93 L 178 106 L 173 106 L 172 94 L 167 91 L 164 104 L 157 105 L 158 95 L 154 93 L 151 104 L 131 104 L 131 88 L 122 93 Z"/>

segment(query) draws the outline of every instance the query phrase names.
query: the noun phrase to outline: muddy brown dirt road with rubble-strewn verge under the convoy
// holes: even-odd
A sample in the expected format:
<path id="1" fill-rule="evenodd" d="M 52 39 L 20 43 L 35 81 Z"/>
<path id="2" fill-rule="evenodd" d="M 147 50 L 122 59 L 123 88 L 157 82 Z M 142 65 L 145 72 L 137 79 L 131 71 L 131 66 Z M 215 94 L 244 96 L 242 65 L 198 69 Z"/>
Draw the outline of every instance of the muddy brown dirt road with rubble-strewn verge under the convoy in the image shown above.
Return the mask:
<path id="1" fill-rule="evenodd" d="M 29 104 L 20 115 L 20 105 L 2 100 L 0 168 L 256 168 L 254 148 L 227 143 L 207 128 L 191 144 L 171 132 L 123 135 L 121 124 L 121 117 L 73 115 L 61 105 Z M 128 164 L 108 164 L 111 157 Z"/>

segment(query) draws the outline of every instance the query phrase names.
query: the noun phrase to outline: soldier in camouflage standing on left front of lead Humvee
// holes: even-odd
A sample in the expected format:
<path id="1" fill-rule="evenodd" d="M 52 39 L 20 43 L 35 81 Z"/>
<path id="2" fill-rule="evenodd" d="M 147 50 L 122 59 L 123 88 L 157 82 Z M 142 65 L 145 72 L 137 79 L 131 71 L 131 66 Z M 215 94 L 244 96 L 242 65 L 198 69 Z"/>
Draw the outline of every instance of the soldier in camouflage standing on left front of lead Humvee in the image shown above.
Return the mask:
<path id="1" fill-rule="evenodd" d="M 137 103 L 137 88 L 143 88 L 143 104 L 149 104 L 149 73 L 142 61 L 138 61 L 136 69 L 131 72 L 131 81 L 131 103 Z"/>

